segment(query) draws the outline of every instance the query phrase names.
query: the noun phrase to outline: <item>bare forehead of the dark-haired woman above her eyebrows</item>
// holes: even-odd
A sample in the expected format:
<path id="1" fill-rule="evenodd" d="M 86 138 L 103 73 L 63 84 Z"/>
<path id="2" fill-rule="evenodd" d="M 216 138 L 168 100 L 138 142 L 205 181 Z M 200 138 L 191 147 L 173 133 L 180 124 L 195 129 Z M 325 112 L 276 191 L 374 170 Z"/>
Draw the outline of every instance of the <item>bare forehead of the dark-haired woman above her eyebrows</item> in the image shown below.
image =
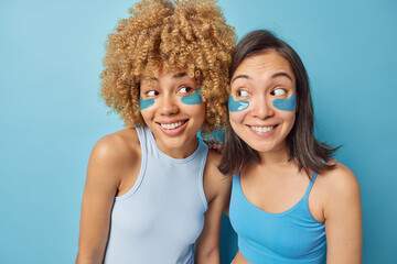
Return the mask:
<path id="1" fill-rule="evenodd" d="M 236 68 L 232 80 L 238 75 L 247 75 L 250 78 L 267 78 L 277 73 L 288 74 L 294 82 L 290 63 L 279 53 L 270 51 L 245 58 Z"/>

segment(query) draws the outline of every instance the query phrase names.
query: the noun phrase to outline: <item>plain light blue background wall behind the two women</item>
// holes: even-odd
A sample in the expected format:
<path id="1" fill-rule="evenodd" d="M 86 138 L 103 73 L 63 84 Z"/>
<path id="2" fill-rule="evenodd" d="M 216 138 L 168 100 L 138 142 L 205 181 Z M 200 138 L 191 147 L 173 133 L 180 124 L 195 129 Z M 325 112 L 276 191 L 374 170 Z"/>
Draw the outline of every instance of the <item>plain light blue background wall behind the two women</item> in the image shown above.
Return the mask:
<path id="1" fill-rule="evenodd" d="M 0 263 L 73 263 L 90 150 L 122 129 L 98 97 L 107 34 L 135 1 L 0 1 Z M 396 261 L 397 2 L 222 0 L 239 38 L 301 55 L 316 134 L 362 190 L 364 263 Z M 227 218 L 224 263 L 236 251 Z"/>

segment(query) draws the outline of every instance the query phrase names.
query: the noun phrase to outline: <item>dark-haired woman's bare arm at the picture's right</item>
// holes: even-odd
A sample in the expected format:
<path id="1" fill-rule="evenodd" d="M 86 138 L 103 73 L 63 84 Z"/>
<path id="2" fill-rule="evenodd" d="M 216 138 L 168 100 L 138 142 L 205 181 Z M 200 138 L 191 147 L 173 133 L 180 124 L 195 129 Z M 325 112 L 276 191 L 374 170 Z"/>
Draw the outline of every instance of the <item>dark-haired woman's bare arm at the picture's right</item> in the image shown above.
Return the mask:
<path id="1" fill-rule="evenodd" d="M 329 177 L 324 206 L 326 263 L 362 263 L 363 220 L 360 186 L 354 174 L 339 164 Z M 330 173 L 331 174 L 331 173 Z"/>

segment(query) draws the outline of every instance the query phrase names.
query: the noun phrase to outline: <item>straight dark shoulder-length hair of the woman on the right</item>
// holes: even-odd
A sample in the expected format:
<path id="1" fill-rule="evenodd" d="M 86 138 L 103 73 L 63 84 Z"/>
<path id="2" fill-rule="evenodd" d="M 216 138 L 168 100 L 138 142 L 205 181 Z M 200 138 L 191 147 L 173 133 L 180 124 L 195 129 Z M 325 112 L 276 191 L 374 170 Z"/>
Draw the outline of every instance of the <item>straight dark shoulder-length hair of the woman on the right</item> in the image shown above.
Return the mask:
<path id="1" fill-rule="evenodd" d="M 320 174 L 335 167 L 335 164 L 326 164 L 322 160 L 329 161 L 339 147 L 330 147 L 314 138 L 314 112 L 309 77 L 297 52 L 269 31 L 254 31 L 247 34 L 233 52 L 229 76 L 232 79 L 245 58 L 271 51 L 277 52 L 289 62 L 297 80 L 298 111 L 293 128 L 287 135 L 289 161 L 296 161 L 299 170 L 304 169 L 311 178 L 313 172 Z M 253 162 L 260 162 L 259 154 L 245 143 L 227 122 L 218 169 L 225 175 L 236 174 Z"/>

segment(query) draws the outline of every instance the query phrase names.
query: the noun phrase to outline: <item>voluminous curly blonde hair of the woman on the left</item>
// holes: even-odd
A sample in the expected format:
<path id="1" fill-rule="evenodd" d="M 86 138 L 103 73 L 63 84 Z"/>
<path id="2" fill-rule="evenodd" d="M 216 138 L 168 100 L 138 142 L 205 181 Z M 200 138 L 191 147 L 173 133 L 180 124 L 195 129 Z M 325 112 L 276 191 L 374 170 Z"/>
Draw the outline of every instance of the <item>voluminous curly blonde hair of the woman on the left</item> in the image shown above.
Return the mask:
<path id="1" fill-rule="evenodd" d="M 227 118 L 228 72 L 235 47 L 234 29 L 215 0 L 142 0 L 109 34 L 100 75 L 100 96 L 126 127 L 144 127 L 139 82 L 180 69 L 201 87 L 206 117 L 202 131 L 223 128 Z"/>

